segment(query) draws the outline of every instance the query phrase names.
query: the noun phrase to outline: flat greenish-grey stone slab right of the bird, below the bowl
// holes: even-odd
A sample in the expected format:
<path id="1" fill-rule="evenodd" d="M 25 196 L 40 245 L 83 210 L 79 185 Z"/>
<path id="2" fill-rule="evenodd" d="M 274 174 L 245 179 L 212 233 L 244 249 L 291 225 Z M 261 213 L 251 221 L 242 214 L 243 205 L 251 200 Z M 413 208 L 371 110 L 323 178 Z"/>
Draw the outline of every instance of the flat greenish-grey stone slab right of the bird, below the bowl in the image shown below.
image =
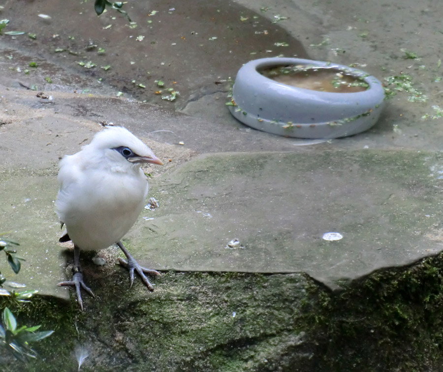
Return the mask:
<path id="1" fill-rule="evenodd" d="M 157 269 L 306 272 L 337 288 L 442 250 L 442 167 L 407 151 L 203 155 L 152 182 L 159 207 L 127 244 Z"/>

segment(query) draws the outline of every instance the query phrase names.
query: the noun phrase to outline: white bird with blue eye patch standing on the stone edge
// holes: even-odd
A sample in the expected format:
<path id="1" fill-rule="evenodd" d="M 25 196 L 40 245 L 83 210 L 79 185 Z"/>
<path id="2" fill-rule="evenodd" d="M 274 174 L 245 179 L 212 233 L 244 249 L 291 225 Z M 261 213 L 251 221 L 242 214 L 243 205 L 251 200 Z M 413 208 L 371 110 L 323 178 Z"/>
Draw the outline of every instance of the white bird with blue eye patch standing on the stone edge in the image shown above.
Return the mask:
<path id="1" fill-rule="evenodd" d="M 129 269 L 130 285 L 134 270 L 149 290 L 153 286 L 145 273 L 159 275 L 141 267 L 120 241 L 134 225 L 148 194 L 148 181 L 140 165 L 163 165 L 152 150 L 126 128 L 109 126 L 95 134 L 90 144 L 60 162 L 56 212 L 66 226 L 60 241 L 74 244 L 72 281 L 59 286 L 75 286 L 83 310 L 80 287 L 94 297 L 83 282 L 80 250 L 99 250 L 117 244 L 127 257 L 119 262 Z"/>

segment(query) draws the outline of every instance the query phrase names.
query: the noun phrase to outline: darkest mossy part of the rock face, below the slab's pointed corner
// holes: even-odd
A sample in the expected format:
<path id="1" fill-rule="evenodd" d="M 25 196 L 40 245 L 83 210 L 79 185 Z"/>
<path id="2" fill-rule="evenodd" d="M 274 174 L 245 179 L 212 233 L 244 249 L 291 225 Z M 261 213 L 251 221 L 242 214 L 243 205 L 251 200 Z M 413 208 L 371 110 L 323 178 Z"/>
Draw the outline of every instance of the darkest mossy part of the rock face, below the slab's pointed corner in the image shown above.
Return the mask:
<path id="1" fill-rule="evenodd" d="M 438 370 L 443 347 L 442 256 L 375 272 L 340 293 L 314 287 L 320 370 Z M 318 293 L 318 291 L 320 291 Z"/>

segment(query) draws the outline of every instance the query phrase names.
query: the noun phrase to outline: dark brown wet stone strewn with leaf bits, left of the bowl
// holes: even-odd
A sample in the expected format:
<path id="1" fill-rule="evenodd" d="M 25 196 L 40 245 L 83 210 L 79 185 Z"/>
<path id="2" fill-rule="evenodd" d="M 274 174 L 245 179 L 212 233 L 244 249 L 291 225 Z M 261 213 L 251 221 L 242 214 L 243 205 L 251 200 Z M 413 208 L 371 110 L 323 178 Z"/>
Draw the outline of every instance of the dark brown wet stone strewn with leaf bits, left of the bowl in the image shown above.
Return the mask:
<path id="1" fill-rule="evenodd" d="M 171 96 L 171 88 L 180 92 L 178 107 L 204 94 L 226 90 L 226 80 L 234 78 L 251 58 L 282 52 L 307 57 L 302 44 L 285 29 L 234 1 L 132 1 L 125 8 L 132 24 L 112 9 L 97 18 L 88 2 L 35 1 L 25 7 L 10 3 L 6 7 L 11 18 L 8 28 L 37 36 L 14 36 L 7 43 L 37 53 L 42 65 L 48 59 L 95 79 L 92 86 L 82 89 L 105 85 L 114 94 L 122 91 L 139 100 L 171 106 L 164 102 Z M 51 18 L 42 19 L 39 12 Z M 84 23 L 88 27 L 78 27 Z M 14 62 L 24 70 L 27 60 L 16 56 Z M 49 76 L 52 84 L 72 86 L 69 78 L 56 71 Z M 51 88 L 44 79 L 39 86 Z"/>

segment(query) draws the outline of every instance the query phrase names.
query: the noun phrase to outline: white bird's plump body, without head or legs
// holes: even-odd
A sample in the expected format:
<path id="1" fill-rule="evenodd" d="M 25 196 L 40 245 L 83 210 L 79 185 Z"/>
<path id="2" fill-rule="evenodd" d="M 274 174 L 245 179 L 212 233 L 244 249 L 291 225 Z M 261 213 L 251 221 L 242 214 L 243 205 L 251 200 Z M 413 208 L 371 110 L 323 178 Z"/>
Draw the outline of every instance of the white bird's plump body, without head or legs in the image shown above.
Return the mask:
<path id="1" fill-rule="evenodd" d="M 63 159 L 56 203 L 60 220 L 81 249 L 102 249 L 122 239 L 135 223 L 148 193 L 137 166 L 83 167 L 81 152 Z"/>

